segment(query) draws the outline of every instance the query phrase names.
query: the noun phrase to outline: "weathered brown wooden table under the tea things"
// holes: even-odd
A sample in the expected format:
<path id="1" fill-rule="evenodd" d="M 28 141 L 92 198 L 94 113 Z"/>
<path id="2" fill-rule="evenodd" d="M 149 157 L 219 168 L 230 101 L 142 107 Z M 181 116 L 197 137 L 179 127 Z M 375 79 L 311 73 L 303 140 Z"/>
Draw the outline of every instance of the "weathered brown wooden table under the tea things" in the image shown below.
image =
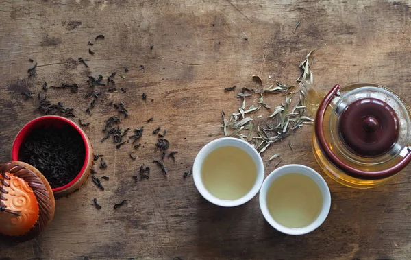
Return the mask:
<path id="1" fill-rule="evenodd" d="M 88 180 L 59 199 L 47 231 L 24 244 L 0 246 L 0 259 L 410 258 L 411 167 L 371 190 L 343 187 L 322 173 L 332 209 L 320 228 L 301 236 L 271 228 L 258 198 L 223 209 L 199 195 L 192 176 L 183 178 L 201 147 L 222 137 L 221 110 L 232 113 L 240 106 L 236 92 L 223 88 L 253 87 L 253 74 L 261 75 L 264 86 L 275 80 L 295 84 L 299 62 L 313 49 L 317 88 L 379 82 L 411 102 L 410 25 L 409 6 L 398 1 L 2 1 L 0 161 L 10 160 L 18 130 L 40 116 L 36 94 L 43 82 L 77 83 L 78 93 L 50 88 L 47 97 L 73 107 L 74 121 L 90 122 L 85 129 L 95 153 L 108 163 L 108 169 L 96 167 L 97 176 L 110 180 L 103 182 L 105 191 Z M 105 38 L 95 40 L 99 34 Z M 27 78 L 29 58 L 38 62 L 32 78 Z M 91 101 L 84 98 L 90 91 L 87 76 L 105 79 L 112 71 L 125 78 L 116 75 L 117 90 L 105 91 L 91 116 L 84 113 Z M 32 91 L 34 99 L 25 101 L 23 91 Z M 266 97 L 272 106 L 283 100 Z M 135 150 L 136 161 L 129 158 L 131 145 L 117 150 L 111 140 L 99 141 L 105 119 L 117 115 L 108 104 L 121 101 L 129 110 L 121 126 L 145 127 L 145 147 Z M 157 126 L 168 131 L 170 150 L 179 152 L 175 162 L 164 159 L 166 178 L 152 163 L 160 156 L 151 134 Z M 264 162 L 281 152 L 282 165 L 301 163 L 320 171 L 311 132 L 305 126 L 288 137 L 294 152 L 288 140 L 275 143 Z M 150 178 L 135 183 L 132 176 L 142 163 L 151 167 Z M 266 167 L 266 174 L 274 168 Z M 126 204 L 114 210 L 123 199 Z"/>

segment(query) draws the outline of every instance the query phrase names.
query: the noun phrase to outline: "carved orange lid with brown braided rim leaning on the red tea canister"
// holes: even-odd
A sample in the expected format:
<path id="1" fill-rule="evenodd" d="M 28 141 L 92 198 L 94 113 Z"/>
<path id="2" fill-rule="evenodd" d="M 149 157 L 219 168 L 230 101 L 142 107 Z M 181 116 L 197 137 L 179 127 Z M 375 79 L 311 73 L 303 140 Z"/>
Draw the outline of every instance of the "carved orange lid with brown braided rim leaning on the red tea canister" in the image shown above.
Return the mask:
<path id="1" fill-rule="evenodd" d="M 27 163 L 0 164 L 0 234 L 32 239 L 54 215 L 53 191 L 38 169 Z"/>

